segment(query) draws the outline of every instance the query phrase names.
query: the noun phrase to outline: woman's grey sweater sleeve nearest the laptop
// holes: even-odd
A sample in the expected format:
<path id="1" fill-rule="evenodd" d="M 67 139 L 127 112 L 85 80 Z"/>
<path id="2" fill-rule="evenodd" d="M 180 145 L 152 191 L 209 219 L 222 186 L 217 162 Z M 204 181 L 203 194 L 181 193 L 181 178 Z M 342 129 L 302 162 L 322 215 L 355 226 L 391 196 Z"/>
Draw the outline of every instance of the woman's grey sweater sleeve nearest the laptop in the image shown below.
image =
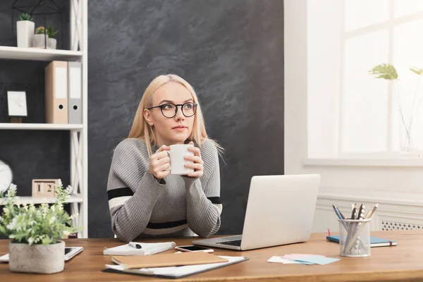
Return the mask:
<path id="1" fill-rule="evenodd" d="M 200 179 L 183 177 L 187 197 L 188 226 L 200 237 L 216 233 L 221 225 L 220 170 L 217 149 L 206 141 L 201 147 L 204 161 Z"/>

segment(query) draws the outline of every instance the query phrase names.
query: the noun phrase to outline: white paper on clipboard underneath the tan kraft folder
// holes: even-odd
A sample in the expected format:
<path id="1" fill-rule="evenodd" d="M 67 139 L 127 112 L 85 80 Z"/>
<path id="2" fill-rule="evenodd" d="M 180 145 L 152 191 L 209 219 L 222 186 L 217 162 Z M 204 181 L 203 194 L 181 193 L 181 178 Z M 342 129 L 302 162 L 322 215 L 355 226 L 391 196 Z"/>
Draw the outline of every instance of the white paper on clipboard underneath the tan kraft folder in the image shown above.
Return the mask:
<path id="1" fill-rule="evenodd" d="M 156 257 L 156 256 L 153 256 Z M 238 262 L 245 262 L 248 260 L 247 257 L 227 257 L 219 256 L 226 259 L 227 262 L 219 262 L 214 264 L 194 264 L 186 266 L 169 266 L 169 267 L 153 267 L 153 268 L 141 268 L 141 269 L 124 269 L 121 265 L 110 265 L 106 264 L 106 269 L 103 272 L 111 272 L 116 274 L 132 274 L 142 276 L 153 276 L 158 278 L 183 278 L 192 274 L 199 274 L 204 271 L 213 269 L 219 269 L 224 266 L 237 264 Z"/>

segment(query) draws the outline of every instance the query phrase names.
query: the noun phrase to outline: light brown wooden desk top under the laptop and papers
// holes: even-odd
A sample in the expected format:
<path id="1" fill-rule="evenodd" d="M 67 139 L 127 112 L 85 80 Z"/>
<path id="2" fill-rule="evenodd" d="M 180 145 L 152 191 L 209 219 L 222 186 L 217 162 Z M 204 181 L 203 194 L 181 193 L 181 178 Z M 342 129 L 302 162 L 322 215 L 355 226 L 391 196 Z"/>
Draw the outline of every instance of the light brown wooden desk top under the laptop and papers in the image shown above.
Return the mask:
<path id="1" fill-rule="evenodd" d="M 372 235 L 396 240 L 398 246 L 373 247 L 370 257 L 341 257 L 341 261 L 323 266 L 267 262 L 274 255 L 292 253 L 338 257 L 339 245 L 326 241 L 326 234 L 322 233 L 312 234 L 307 243 L 246 252 L 215 249 L 216 255 L 242 255 L 250 257 L 250 260 L 176 281 L 423 281 L 423 231 L 385 231 Z M 178 245 L 189 245 L 191 240 L 174 239 Z M 7 244 L 8 240 L 0 240 L 0 255 L 8 252 Z M 163 278 L 102 272 L 104 264 L 113 264 L 110 256 L 102 255 L 103 248 L 121 244 L 116 239 L 68 239 L 66 245 L 82 246 L 85 250 L 66 262 L 61 273 L 16 274 L 8 270 L 8 264 L 0 263 L 0 281 L 166 281 Z"/>

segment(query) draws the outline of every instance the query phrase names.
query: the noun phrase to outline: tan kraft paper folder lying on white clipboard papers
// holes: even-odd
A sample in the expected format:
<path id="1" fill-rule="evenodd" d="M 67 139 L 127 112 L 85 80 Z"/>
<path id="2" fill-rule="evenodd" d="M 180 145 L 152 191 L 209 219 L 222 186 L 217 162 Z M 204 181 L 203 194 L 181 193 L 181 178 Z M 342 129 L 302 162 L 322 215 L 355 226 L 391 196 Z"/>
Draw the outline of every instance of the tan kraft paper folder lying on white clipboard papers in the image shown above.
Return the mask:
<path id="1" fill-rule="evenodd" d="M 192 264 L 212 264 L 217 262 L 228 262 L 207 252 L 181 252 L 178 254 L 160 254 L 152 257 L 137 256 L 115 256 L 111 258 L 115 264 L 120 264 L 125 269 L 140 269 L 143 267 L 160 267 L 160 266 L 181 266 Z"/>

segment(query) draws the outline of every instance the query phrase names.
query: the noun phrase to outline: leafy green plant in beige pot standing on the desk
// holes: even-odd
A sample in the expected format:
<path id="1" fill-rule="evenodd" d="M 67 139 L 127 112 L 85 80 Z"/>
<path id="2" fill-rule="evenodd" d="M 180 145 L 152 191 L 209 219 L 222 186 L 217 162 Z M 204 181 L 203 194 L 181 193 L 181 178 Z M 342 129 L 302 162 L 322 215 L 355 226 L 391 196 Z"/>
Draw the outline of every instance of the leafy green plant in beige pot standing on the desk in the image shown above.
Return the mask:
<path id="1" fill-rule="evenodd" d="M 11 184 L 3 198 L 3 213 L 0 215 L 0 234 L 6 235 L 11 271 L 53 274 L 63 271 L 65 243 L 61 238 L 80 231 L 72 226 L 72 216 L 63 209 L 63 202 L 71 186 L 63 189 L 56 186 L 56 201 L 50 204 L 18 204 L 16 185 Z M 75 215 L 76 216 L 76 215 Z"/>

